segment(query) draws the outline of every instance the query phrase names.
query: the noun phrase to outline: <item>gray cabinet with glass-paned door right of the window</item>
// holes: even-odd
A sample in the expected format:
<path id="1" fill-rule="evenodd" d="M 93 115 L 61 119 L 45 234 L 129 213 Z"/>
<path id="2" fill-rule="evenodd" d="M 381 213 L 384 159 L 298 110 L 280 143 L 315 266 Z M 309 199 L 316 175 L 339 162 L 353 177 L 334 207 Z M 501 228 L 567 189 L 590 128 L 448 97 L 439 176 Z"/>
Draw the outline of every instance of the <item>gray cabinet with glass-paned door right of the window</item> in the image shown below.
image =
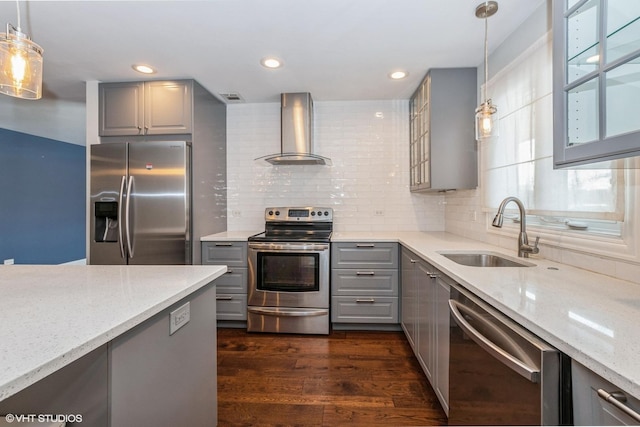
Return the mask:
<path id="1" fill-rule="evenodd" d="M 640 155 L 640 1 L 552 3 L 555 167 Z"/>

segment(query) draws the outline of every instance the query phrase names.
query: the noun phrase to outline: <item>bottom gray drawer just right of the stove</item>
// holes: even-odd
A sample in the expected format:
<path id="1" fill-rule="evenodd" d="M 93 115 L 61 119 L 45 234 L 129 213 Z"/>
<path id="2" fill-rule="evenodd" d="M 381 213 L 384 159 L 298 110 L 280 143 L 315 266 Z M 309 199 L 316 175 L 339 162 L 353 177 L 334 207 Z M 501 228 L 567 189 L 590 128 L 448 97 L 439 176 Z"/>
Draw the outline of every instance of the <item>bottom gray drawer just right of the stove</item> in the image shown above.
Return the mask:
<path id="1" fill-rule="evenodd" d="M 334 323 L 398 323 L 397 297 L 332 297 Z"/>

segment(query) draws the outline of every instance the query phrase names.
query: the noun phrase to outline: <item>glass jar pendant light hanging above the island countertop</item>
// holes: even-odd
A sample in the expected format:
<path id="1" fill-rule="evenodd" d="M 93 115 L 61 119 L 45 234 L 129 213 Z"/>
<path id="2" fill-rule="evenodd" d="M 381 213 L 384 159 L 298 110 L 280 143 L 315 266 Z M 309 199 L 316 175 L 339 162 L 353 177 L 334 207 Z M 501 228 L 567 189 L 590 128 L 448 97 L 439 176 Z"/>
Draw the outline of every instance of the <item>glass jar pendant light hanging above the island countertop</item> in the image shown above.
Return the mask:
<path id="1" fill-rule="evenodd" d="M 22 99 L 42 97 L 42 48 L 20 29 L 20 4 L 16 0 L 18 26 L 7 24 L 0 33 L 0 93 Z"/>

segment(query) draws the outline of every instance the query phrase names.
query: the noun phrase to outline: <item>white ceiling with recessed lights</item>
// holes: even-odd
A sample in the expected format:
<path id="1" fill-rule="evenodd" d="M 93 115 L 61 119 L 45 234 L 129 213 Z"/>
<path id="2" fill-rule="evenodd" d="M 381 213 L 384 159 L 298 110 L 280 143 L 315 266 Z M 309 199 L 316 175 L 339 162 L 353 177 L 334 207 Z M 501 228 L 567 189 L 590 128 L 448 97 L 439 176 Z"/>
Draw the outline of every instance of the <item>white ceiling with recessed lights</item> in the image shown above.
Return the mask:
<path id="1" fill-rule="evenodd" d="M 407 99 L 429 68 L 476 67 L 483 59 L 480 3 L 20 1 L 20 10 L 23 32 L 44 48 L 45 100 L 84 103 L 85 81 L 143 80 L 131 65 L 147 63 L 158 70 L 153 79 L 194 78 L 214 94 L 277 102 L 281 92 L 298 91 L 315 101 Z M 542 3 L 499 0 L 489 18 L 490 50 Z M 0 25 L 6 22 L 17 25 L 15 1 L 0 1 Z M 267 55 L 284 67 L 263 68 Z M 409 77 L 390 80 L 396 69 Z"/>

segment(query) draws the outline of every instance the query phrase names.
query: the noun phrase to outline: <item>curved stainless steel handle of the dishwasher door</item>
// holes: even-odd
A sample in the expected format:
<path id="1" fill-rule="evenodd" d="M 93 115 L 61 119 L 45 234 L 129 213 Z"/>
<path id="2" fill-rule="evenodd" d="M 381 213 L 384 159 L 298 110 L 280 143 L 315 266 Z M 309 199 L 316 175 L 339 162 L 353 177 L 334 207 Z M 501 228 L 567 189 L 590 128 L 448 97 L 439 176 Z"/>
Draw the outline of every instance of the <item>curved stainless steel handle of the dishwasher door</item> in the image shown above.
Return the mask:
<path id="1" fill-rule="evenodd" d="M 494 342 L 478 332 L 469 322 L 466 321 L 462 313 L 460 313 L 460 307 L 464 307 L 458 301 L 449 300 L 449 307 L 451 308 L 451 315 L 456 320 L 456 323 L 476 344 L 482 347 L 491 356 L 498 359 L 503 365 L 507 366 L 514 372 L 520 374 L 532 383 L 540 382 L 540 370 L 537 367 L 531 367 L 518 360 L 513 355 L 509 354 L 506 350 L 500 348 Z M 467 315 L 473 316 L 473 310 L 465 310 Z M 484 322 L 484 320 L 478 316 L 475 318 L 478 322 Z"/>

